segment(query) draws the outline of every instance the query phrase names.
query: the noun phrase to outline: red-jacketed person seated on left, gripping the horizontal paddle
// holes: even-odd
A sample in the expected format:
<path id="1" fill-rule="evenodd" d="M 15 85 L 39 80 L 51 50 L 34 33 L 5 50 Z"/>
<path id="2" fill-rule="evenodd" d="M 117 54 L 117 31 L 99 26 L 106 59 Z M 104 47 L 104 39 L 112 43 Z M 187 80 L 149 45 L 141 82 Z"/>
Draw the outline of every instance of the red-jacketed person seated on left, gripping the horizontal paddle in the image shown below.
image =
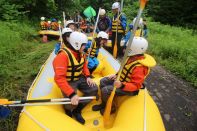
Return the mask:
<path id="1" fill-rule="evenodd" d="M 65 41 L 66 39 L 66 41 Z M 53 61 L 55 72 L 54 80 L 61 89 L 64 97 L 71 99 L 71 105 L 65 105 L 67 115 L 74 116 L 81 124 L 85 123 L 81 110 L 88 103 L 80 103 L 76 90 L 80 90 L 84 96 L 97 96 L 98 87 L 90 78 L 87 61 L 83 56 L 87 36 L 80 32 L 73 32 L 70 38 L 64 38 L 66 44 Z"/>

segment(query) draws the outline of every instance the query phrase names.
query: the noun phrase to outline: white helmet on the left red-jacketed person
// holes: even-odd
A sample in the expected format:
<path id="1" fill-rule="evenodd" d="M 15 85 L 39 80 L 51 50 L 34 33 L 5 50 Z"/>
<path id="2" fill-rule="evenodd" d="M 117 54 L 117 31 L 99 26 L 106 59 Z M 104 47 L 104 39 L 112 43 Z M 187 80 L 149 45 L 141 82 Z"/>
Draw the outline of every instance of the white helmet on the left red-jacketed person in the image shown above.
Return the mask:
<path id="1" fill-rule="evenodd" d="M 75 31 L 70 34 L 69 43 L 77 51 L 80 50 L 82 44 L 87 42 L 88 42 L 87 36 L 81 32 Z"/>

